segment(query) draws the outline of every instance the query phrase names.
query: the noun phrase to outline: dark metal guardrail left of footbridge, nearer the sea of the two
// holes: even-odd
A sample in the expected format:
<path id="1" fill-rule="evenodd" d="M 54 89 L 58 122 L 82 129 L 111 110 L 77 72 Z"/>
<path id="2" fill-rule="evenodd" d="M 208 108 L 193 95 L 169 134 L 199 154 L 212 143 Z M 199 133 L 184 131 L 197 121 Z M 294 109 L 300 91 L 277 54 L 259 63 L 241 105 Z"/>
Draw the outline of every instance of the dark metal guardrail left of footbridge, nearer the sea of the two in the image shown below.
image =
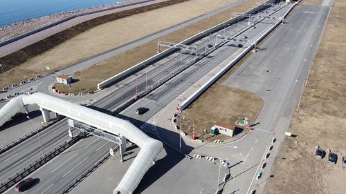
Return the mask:
<path id="1" fill-rule="evenodd" d="M 10 144 L 7 144 L 6 146 L 3 146 L 2 148 L 0 148 L 0 155 L 5 153 L 6 151 L 10 150 L 10 148 L 17 146 L 21 142 L 24 142 L 26 139 L 33 137 L 34 135 L 41 132 L 42 130 L 45 130 L 46 128 L 48 128 L 48 126 L 51 126 L 51 125 L 55 124 L 56 122 L 59 122 L 63 118 L 64 117 L 62 117 L 62 116 L 55 117 L 54 119 L 51 119 L 51 121 L 48 122 L 48 124 L 44 124 L 44 126 L 40 126 L 39 128 L 33 130 L 32 132 L 27 133 L 23 137 L 19 137 L 19 139 L 16 139 L 15 141 L 11 142 Z"/>

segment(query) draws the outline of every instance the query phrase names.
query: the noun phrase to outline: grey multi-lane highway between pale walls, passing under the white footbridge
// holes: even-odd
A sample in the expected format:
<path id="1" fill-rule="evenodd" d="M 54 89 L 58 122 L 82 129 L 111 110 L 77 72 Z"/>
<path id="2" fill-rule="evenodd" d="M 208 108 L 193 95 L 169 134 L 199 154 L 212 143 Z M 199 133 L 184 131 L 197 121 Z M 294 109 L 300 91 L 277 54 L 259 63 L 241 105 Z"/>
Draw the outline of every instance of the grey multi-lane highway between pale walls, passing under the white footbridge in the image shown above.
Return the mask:
<path id="1" fill-rule="evenodd" d="M 282 14 L 283 12 L 285 12 L 284 9 L 275 12 L 274 14 L 280 16 L 280 14 Z M 264 30 L 267 26 L 271 25 L 273 21 L 273 19 L 266 19 L 266 22 L 258 23 L 256 25 L 256 28 L 249 27 L 248 21 L 240 21 L 239 26 L 227 26 L 227 28 L 225 28 L 224 30 L 216 32 L 212 35 L 208 35 L 208 37 L 206 37 L 205 39 L 201 39 L 194 44 L 199 46 L 198 52 L 201 53 L 206 49 L 206 45 L 215 44 L 215 37 L 217 35 L 222 35 L 222 33 L 224 33 L 224 35 L 228 33 L 231 35 L 234 32 L 237 32 L 239 29 L 246 28 L 246 31 L 242 32 L 242 35 L 238 36 L 246 36 L 247 39 L 252 39 L 259 32 L 262 32 L 262 30 Z M 136 104 L 134 104 L 134 106 L 131 106 L 123 113 L 120 113 L 120 117 L 125 117 L 125 119 L 129 119 L 134 124 L 136 124 L 136 126 L 140 127 L 144 122 L 147 122 L 151 117 L 156 115 L 156 113 L 158 113 L 158 111 L 160 111 L 163 107 L 167 106 L 167 104 L 170 104 L 171 101 L 174 101 L 174 99 L 176 98 L 176 93 L 183 93 L 194 82 L 198 81 L 201 77 L 203 77 L 203 75 L 206 75 L 207 72 L 210 72 L 210 70 L 215 68 L 217 64 L 220 64 L 221 61 L 224 61 L 224 59 L 226 59 L 230 55 L 230 53 L 233 53 L 235 52 L 235 50 L 239 49 L 244 48 L 238 48 L 237 43 L 226 43 L 224 46 L 221 46 L 221 48 L 218 48 L 217 50 L 212 52 L 212 54 L 208 55 L 208 57 L 201 59 L 190 68 L 187 68 L 185 71 L 171 79 L 165 85 L 154 90 L 153 93 L 150 93 L 144 99 L 140 99 L 138 102 L 136 102 Z M 100 99 L 100 101 L 96 101 L 94 104 L 92 104 L 92 106 L 97 107 L 100 110 L 104 110 L 105 112 L 111 111 L 122 104 L 124 100 L 134 97 L 136 91 L 136 82 L 138 83 L 137 87 L 139 90 L 146 90 L 147 83 L 149 85 L 155 84 L 156 81 L 160 81 L 168 73 L 181 68 L 181 66 L 187 63 L 187 61 L 191 61 L 193 59 L 194 55 L 192 53 L 174 53 L 173 55 L 156 62 L 156 64 L 148 66 L 147 68 L 145 68 L 145 70 L 136 72 L 135 75 L 131 75 L 126 79 L 120 81 L 118 84 L 111 86 L 113 88 L 116 88 L 116 90 L 110 95 L 107 95 L 107 97 Z M 148 107 L 149 111 L 143 116 L 138 116 L 134 113 L 134 110 L 138 106 Z M 55 126 L 47 130 L 50 130 L 51 133 L 53 133 L 55 130 L 66 132 L 66 126 L 60 128 Z M 69 184 L 69 182 L 71 182 L 71 180 L 75 178 L 75 175 L 82 173 L 82 171 L 87 168 L 86 166 L 93 164 L 98 160 L 98 157 L 104 155 L 109 151 L 109 147 L 112 145 L 107 144 L 107 141 L 97 139 L 96 137 L 87 137 L 86 139 L 82 139 L 78 144 L 75 144 L 66 151 L 66 153 L 71 153 L 69 157 L 75 157 L 75 159 L 73 159 L 73 162 L 69 162 L 69 164 L 60 167 L 61 170 L 57 172 L 53 170 L 63 164 L 64 161 L 66 161 L 66 157 L 63 157 L 63 155 L 61 155 L 53 159 L 51 162 L 49 162 L 33 174 L 35 175 L 35 177 L 39 177 L 40 182 L 38 186 L 31 188 L 28 193 L 44 193 L 49 191 L 58 191 L 64 188 L 66 184 Z M 264 146 L 264 143 L 262 144 L 262 146 Z M 52 171 L 54 173 L 53 176 Z M 72 171 L 74 171 L 74 174 L 70 175 Z M 59 182 L 59 184 L 55 184 L 57 182 Z M 12 190 L 8 191 L 8 193 L 11 192 Z"/>

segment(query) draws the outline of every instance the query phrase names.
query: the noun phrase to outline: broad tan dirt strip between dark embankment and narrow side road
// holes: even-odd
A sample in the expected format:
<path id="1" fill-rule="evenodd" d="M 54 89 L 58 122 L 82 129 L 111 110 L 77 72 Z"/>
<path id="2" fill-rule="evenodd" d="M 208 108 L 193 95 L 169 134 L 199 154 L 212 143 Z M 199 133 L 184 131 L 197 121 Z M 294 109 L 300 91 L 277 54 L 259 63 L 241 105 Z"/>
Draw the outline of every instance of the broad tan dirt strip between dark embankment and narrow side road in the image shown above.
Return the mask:
<path id="1" fill-rule="evenodd" d="M 16 68 L 6 69 L 9 83 L 18 83 L 24 78 L 37 75 L 37 73 L 43 74 L 44 72 L 70 66 L 100 52 L 110 50 L 135 39 L 140 39 L 233 2 L 235 0 L 191 0 L 104 23 L 47 50 L 42 55 L 29 59 Z M 252 6 L 255 6 L 255 3 L 252 3 Z M 176 12 L 176 10 L 179 10 L 179 12 Z M 230 12 L 228 13 L 229 16 Z M 152 52 L 155 52 L 155 49 Z M 145 58 L 147 57 L 141 59 Z M 127 67 L 133 65 L 126 63 Z M 47 70 L 46 67 L 50 70 Z M 25 75 L 23 72 L 26 72 Z M 108 75 L 93 74 L 92 79 L 103 80 L 108 77 Z M 4 77 L 0 77 L 0 86 L 5 85 Z"/>

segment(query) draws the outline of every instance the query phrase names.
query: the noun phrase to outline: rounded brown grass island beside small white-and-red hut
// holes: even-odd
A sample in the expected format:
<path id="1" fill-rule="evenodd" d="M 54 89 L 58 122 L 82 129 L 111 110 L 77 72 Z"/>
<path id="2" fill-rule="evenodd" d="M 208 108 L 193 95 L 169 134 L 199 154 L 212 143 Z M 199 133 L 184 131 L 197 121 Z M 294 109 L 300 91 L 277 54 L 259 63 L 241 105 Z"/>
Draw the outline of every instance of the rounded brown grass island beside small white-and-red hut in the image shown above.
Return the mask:
<path id="1" fill-rule="evenodd" d="M 252 123 L 262 107 L 263 101 L 260 97 L 236 88 L 228 88 L 221 84 L 211 86 L 201 97 L 192 103 L 181 113 L 177 125 L 188 135 L 196 135 L 199 139 L 204 139 L 204 128 L 214 126 L 215 122 L 235 125 L 238 117 L 248 117 L 248 122 Z M 185 119 L 182 119 L 185 117 Z M 239 133 L 245 132 L 243 128 L 237 130 Z M 235 137 L 237 137 L 237 135 Z M 233 137 L 233 138 L 235 138 Z M 232 138 L 228 135 L 207 134 L 206 140 Z"/>

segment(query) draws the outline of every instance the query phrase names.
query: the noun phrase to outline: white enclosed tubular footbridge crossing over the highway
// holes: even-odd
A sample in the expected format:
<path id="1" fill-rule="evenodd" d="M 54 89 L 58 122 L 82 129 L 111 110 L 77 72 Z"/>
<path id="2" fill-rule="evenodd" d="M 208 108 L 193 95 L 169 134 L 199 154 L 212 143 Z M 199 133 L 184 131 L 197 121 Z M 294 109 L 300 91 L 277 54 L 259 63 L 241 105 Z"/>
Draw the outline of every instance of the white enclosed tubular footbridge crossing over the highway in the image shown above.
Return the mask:
<path id="1" fill-rule="evenodd" d="M 45 121 L 49 117 L 49 110 L 51 110 L 108 133 L 125 137 L 140 147 L 140 152 L 118 186 L 113 190 L 113 194 L 133 193 L 147 170 L 154 164 L 158 153 L 163 149 L 162 142 L 150 138 L 130 122 L 43 93 L 20 95 L 11 99 L 0 109 L 0 126 L 28 104 L 37 104 Z"/>

